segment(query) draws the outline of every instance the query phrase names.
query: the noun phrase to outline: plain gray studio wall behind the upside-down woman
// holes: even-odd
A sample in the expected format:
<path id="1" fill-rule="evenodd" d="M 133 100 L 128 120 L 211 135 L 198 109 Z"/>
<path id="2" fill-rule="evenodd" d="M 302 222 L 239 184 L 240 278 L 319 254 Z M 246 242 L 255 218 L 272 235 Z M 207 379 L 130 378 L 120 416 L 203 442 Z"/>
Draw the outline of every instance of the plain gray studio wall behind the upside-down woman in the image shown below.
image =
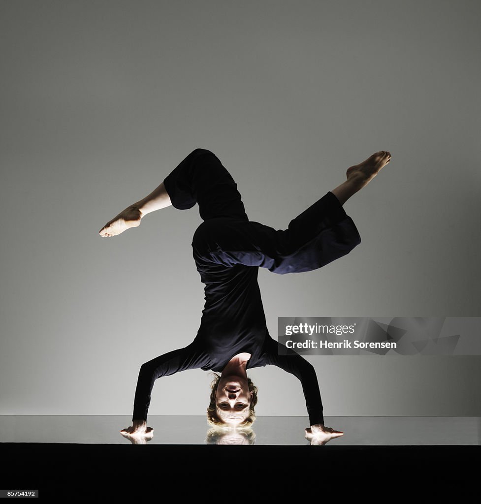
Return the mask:
<path id="1" fill-rule="evenodd" d="M 197 147 L 251 220 L 284 229 L 378 150 L 346 212 L 362 244 L 322 270 L 260 271 L 277 317 L 479 316 L 475 1 L 0 2 L 1 414 L 130 415 L 140 365 L 203 307 L 197 207 L 98 230 Z M 308 357 L 326 416 L 480 415 L 480 357 Z M 306 415 L 253 369 L 260 415 Z M 210 377 L 158 380 L 150 414 L 202 414 Z"/>

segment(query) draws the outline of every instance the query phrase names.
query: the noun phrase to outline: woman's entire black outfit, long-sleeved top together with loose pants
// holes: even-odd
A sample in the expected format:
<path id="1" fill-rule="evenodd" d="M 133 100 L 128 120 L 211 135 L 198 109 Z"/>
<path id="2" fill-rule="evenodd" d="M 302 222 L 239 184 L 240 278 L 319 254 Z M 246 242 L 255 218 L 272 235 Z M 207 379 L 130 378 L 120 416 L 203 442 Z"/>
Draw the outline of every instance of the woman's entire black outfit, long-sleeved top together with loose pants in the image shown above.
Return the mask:
<path id="1" fill-rule="evenodd" d="M 193 256 L 205 284 L 205 305 L 197 336 L 185 348 L 142 365 L 133 420 L 147 419 L 150 394 L 160 376 L 185 369 L 221 372 L 248 352 L 247 369 L 273 364 L 302 383 L 310 424 L 324 423 L 314 367 L 300 355 L 279 355 L 283 345 L 266 326 L 258 268 L 278 274 L 312 271 L 349 253 L 360 243 L 352 219 L 328 192 L 286 230 L 249 221 L 237 184 L 212 152 L 196 149 L 165 179 L 177 209 L 199 204 L 204 220 L 194 233 Z M 285 347 L 283 347 L 285 350 Z"/>

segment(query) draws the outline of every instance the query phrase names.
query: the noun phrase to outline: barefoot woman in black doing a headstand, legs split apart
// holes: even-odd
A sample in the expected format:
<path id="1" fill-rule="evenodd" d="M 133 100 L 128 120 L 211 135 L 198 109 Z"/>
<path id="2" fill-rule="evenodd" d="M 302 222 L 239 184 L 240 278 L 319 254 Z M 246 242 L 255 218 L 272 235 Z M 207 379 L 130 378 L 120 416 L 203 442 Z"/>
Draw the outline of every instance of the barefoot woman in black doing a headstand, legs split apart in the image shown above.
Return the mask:
<path id="1" fill-rule="evenodd" d="M 293 219 L 286 230 L 275 230 L 249 221 L 229 172 L 211 151 L 196 149 L 150 195 L 99 231 L 103 237 L 116 236 L 138 226 L 146 214 L 169 205 L 184 210 L 198 203 L 203 219 L 192 241 L 197 270 L 205 284 L 200 328 L 187 347 L 141 366 L 133 425 L 121 431 L 124 435 L 152 436 L 146 420 L 155 380 L 194 368 L 221 373 L 212 388 L 209 423 L 246 426 L 255 419 L 257 402 L 257 389 L 248 379 L 247 369 L 266 364 L 292 373 L 302 383 L 311 425 L 306 429 L 308 436 L 324 444 L 342 435 L 324 426 L 313 366 L 300 355 L 285 355 L 285 347 L 270 337 L 258 268 L 278 274 L 306 272 L 348 254 L 360 237 L 342 205 L 390 159 L 389 152 L 380 151 L 351 166 L 346 181 Z"/>

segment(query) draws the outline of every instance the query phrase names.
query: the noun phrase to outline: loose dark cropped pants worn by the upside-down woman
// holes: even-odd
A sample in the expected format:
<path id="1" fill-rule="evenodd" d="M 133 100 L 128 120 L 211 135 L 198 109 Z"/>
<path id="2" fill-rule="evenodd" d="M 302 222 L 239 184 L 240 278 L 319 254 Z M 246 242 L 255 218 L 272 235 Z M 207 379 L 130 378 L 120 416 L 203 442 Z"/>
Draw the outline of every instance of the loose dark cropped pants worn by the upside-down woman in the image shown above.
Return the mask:
<path id="1" fill-rule="evenodd" d="M 352 219 L 328 192 L 290 221 L 285 230 L 249 221 L 237 184 L 215 154 L 191 152 L 165 179 L 177 209 L 199 204 L 203 223 L 192 241 L 205 282 L 215 265 L 267 268 L 278 274 L 312 271 L 349 253 L 360 243 Z M 208 265 L 212 267 L 209 269 Z"/>

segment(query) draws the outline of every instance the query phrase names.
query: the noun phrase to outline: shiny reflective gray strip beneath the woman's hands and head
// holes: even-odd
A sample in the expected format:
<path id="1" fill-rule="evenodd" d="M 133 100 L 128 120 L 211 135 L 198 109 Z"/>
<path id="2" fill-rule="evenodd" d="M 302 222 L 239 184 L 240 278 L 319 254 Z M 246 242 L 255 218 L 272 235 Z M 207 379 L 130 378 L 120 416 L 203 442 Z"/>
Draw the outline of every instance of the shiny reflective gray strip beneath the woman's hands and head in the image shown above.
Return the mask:
<path id="1" fill-rule="evenodd" d="M 150 416 L 148 444 L 309 445 L 305 417 L 258 417 L 252 430 L 213 431 L 204 416 Z M 0 416 L 0 443 L 130 444 L 127 416 Z M 329 446 L 481 445 L 480 417 L 327 417 Z M 315 444 L 315 443 L 313 443 Z"/>

